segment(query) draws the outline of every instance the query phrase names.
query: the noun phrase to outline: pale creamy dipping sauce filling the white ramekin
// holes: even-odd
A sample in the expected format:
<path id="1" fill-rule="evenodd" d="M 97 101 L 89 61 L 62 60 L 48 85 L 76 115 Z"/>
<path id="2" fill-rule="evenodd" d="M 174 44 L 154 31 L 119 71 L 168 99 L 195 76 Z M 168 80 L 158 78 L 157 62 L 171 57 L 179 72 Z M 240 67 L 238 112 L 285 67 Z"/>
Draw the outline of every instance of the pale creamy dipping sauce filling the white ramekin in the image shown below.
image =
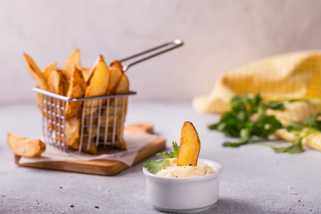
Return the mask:
<path id="1" fill-rule="evenodd" d="M 206 176 L 214 172 L 204 161 L 197 162 L 196 166 L 177 166 L 177 158 L 172 158 L 167 161 L 167 164 L 165 168 L 156 172 L 157 176 L 187 178 Z"/>

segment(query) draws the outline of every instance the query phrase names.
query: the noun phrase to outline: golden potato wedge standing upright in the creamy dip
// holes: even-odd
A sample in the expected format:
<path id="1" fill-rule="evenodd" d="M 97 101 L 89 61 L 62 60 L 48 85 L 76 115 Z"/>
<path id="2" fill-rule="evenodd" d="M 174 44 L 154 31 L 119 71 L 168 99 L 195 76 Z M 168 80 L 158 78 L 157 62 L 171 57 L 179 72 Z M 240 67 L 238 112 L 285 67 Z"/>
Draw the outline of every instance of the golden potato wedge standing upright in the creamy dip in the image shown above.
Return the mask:
<path id="1" fill-rule="evenodd" d="M 198 133 L 191 122 L 185 122 L 180 135 L 177 166 L 196 166 L 200 150 Z"/>

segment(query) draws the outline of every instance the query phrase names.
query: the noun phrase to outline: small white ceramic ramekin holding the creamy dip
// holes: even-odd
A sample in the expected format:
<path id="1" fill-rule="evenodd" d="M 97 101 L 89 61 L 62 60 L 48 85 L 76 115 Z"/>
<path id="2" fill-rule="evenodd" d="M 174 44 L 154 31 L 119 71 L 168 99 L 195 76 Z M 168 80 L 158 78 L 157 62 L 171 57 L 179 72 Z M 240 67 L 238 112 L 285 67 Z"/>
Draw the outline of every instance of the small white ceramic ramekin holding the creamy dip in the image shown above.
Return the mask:
<path id="1" fill-rule="evenodd" d="M 210 208 L 218 200 L 222 165 L 210 160 L 199 161 L 204 161 L 215 172 L 192 178 L 169 178 L 156 176 L 143 168 L 148 201 L 166 212 L 190 213 Z"/>

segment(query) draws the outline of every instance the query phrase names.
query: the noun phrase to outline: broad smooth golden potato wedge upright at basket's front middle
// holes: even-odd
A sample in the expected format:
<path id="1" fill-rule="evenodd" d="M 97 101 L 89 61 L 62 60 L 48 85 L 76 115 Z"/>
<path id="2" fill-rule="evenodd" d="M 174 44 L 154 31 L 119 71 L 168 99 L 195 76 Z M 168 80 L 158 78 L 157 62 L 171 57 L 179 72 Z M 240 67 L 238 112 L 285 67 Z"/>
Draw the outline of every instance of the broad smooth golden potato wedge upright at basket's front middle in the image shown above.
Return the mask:
<path id="1" fill-rule="evenodd" d="M 94 65 L 93 72 L 87 83 L 85 96 L 105 95 L 110 79 L 110 70 L 104 61 L 104 57 L 99 55 Z M 86 107 L 97 106 L 99 100 L 87 101 Z M 86 109 L 85 115 L 91 113 L 90 108 Z"/>

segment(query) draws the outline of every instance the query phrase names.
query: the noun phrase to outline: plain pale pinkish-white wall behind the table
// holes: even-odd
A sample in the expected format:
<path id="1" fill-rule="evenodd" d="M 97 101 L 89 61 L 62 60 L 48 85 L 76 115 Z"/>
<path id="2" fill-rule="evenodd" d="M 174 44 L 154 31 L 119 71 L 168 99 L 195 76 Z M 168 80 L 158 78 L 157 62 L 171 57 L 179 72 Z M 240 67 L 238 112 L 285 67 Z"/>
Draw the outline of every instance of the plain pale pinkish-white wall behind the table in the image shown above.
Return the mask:
<path id="1" fill-rule="evenodd" d="M 321 48 L 318 0 L 0 0 L 0 104 L 35 100 L 23 52 L 42 69 L 73 49 L 90 67 L 174 38 L 181 48 L 128 70 L 135 100 L 190 100 L 229 69 Z"/>

